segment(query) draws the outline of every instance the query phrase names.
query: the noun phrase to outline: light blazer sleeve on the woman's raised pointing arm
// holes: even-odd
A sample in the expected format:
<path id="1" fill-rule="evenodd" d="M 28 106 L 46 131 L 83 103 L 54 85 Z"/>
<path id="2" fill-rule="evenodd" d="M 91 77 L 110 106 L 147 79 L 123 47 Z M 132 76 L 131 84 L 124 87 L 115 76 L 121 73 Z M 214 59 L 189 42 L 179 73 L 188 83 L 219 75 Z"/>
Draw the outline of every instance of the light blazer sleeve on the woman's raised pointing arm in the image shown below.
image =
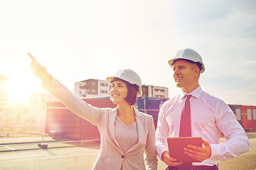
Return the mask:
<path id="1" fill-rule="evenodd" d="M 100 120 L 102 119 L 102 115 L 105 111 L 104 108 L 96 108 L 85 101 L 82 101 L 54 77 L 52 77 L 51 81 L 47 84 L 42 83 L 41 86 L 50 94 L 53 94 L 53 96 L 58 98 L 67 108 L 70 109 L 70 111 L 75 113 L 75 115 L 80 116 L 93 125 L 100 124 Z"/>

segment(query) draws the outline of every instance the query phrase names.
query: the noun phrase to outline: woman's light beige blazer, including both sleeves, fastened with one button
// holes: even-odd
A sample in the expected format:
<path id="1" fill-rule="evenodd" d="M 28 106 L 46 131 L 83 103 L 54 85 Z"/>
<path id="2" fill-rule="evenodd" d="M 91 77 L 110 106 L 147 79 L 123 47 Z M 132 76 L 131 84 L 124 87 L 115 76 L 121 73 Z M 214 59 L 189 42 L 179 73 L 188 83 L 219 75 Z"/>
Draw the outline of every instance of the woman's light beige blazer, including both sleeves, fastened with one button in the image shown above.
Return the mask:
<path id="1" fill-rule="evenodd" d="M 151 115 L 134 108 L 139 142 L 124 153 L 114 135 L 117 108 L 95 108 L 75 96 L 54 77 L 49 83 L 42 84 L 42 87 L 57 97 L 70 111 L 97 125 L 101 142 L 100 153 L 93 169 L 157 169 L 155 128 Z"/>

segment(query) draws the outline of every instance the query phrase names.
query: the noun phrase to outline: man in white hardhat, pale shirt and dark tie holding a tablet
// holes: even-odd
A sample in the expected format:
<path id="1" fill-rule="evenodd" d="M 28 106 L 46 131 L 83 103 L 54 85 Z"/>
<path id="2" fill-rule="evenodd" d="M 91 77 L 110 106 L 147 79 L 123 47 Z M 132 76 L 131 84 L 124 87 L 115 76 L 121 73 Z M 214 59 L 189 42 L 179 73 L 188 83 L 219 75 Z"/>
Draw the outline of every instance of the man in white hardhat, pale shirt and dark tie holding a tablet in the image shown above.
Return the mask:
<path id="1" fill-rule="evenodd" d="M 181 88 L 181 94 L 166 101 L 159 111 L 156 150 L 159 158 L 168 165 L 167 169 L 218 169 L 218 162 L 247 152 L 250 142 L 233 111 L 219 98 L 202 91 L 198 84 L 200 74 L 205 71 L 198 52 L 181 50 L 174 59 L 169 60 L 169 65 L 174 70 L 174 80 L 176 86 Z M 203 147 L 188 145 L 184 149 L 188 157 L 199 161 L 193 164 L 177 162 L 175 158 L 169 157 L 167 147 L 167 137 L 182 136 L 183 130 L 180 128 L 183 126 L 180 124 L 185 101 L 190 105 L 186 107 L 191 117 L 185 125 L 185 128 L 191 125 L 189 135 L 185 136 L 203 138 Z M 226 142 L 219 144 L 221 133 Z"/>

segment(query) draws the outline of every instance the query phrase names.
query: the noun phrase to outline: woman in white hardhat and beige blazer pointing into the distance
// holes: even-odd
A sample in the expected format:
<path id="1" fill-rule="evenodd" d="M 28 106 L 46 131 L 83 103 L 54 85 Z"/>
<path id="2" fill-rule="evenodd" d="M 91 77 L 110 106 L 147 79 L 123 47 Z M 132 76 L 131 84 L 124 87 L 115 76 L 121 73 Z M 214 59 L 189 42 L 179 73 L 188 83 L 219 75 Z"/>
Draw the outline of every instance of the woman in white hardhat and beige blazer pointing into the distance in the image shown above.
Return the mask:
<path id="1" fill-rule="evenodd" d="M 132 69 L 119 70 L 107 77 L 111 84 L 110 99 L 116 108 L 95 108 L 82 101 L 48 74 L 28 53 L 33 73 L 42 79 L 42 87 L 57 97 L 75 115 L 97 125 L 100 153 L 93 169 L 157 169 L 153 118 L 132 106 L 142 95 L 142 82 Z"/>

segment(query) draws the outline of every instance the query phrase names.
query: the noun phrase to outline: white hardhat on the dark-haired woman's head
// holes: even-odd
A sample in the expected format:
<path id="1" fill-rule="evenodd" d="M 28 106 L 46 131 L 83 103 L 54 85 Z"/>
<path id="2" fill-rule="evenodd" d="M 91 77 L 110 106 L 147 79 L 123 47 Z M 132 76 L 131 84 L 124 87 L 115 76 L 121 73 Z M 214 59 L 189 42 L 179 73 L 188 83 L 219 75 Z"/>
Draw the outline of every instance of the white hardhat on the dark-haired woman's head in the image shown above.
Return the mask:
<path id="1" fill-rule="evenodd" d="M 130 84 L 135 84 L 139 87 L 137 92 L 137 97 L 142 96 L 142 80 L 139 78 L 139 75 L 134 72 L 132 69 L 120 69 L 114 76 L 107 77 L 107 82 L 111 84 L 111 81 L 114 78 L 123 79 L 124 81 L 129 82 Z"/>

